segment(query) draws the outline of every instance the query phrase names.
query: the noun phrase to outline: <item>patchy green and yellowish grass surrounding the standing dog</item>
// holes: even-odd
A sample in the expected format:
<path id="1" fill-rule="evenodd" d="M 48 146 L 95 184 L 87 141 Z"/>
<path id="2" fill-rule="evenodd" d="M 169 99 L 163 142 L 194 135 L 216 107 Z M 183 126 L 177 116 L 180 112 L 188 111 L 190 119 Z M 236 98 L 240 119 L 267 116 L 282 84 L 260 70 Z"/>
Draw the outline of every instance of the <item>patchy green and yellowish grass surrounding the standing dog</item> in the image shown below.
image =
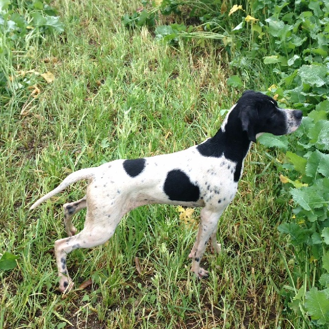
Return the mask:
<path id="1" fill-rule="evenodd" d="M 209 279 L 190 273 L 195 225 L 180 220 L 176 207 L 145 206 L 126 216 L 104 246 L 72 252 L 75 290 L 57 291 L 61 205 L 81 198 L 85 185 L 28 212 L 31 202 L 74 170 L 201 142 L 216 133 L 220 110 L 239 94 L 225 84 L 231 72 L 219 44 L 173 48 L 145 28 L 124 29 L 120 17 L 138 6 L 134 1 L 54 4 L 65 32 L 32 45 L 24 65 L 55 79 L 38 80 L 35 99 L 16 93 L 1 112 L 0 254 L 19 258 L 14 270 L 0 272 L 0 328 L 292 328 L 278 295 L 287 274 L 276 228 L 289 216 L 277 199 L 280 155 L 258 144 L 219 222 L 225 251 L 204 255 Z M 74 219 L 78 230 L 84 215 Z M 92 284 L 79 289 L 88 279 Z"/>

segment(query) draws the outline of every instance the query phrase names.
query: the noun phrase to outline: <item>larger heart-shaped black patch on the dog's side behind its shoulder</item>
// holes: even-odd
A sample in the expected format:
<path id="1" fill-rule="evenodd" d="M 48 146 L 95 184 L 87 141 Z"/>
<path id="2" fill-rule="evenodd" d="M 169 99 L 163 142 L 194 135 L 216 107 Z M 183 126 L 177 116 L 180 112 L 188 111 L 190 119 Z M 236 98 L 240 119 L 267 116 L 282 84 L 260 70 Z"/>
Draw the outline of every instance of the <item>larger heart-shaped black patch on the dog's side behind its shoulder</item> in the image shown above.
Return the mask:
<path id="1" fill-rule="evenodd" d="M 164 193 L 169 200 L 195 202 L 199 199 L 200 189 L 190 181 L 184 171 L 174 169 L 167 173 L 164 181 Z"/>

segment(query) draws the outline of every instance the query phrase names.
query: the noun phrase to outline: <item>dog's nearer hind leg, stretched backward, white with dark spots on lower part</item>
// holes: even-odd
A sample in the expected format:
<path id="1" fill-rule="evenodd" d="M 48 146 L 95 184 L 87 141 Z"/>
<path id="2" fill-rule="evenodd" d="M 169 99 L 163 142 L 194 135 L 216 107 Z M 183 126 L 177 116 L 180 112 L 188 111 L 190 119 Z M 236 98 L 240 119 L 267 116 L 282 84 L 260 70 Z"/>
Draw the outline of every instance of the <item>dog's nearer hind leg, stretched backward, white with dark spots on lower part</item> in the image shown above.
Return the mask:
<path id="1" fill-rule="evenodd" d="M 110 213 L 109 209 L 107 213 Z M 73 282 L 66 267 L 67 255 L 75 249 L 96 247 L 108 241 L 123 215 L 115 211 L 113 213 L 109 218 L 105 217 L 104 213 L 93 212 L 91 214 L 89 208 L 87 208 L 83 230 L 77 235 L 55 241 L 55 257 L 60 291 L 66 292 L 73 287 Z"/>

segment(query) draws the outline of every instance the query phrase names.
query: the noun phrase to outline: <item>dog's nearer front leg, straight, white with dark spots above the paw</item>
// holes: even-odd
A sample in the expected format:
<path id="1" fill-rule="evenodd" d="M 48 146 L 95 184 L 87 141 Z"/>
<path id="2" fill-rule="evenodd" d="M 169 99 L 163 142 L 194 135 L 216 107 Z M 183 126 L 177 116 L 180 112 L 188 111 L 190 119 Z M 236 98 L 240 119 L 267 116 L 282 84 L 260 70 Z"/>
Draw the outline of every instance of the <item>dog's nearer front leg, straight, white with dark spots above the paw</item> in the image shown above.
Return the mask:
<path id="1" fill-rule="evenodd" d="M 201 257 L 206 249 L 207 242 L 213 232 L 217 231 L 217 224 L 219 217 L 222 213 L 221 211 L 213 211 L 207 208 L 201 210 L 200 224 L 196 237 L 195 244 L 192 248 L 192 251 L 189 255 L 192 258 L 192 267 L 191 272 L 193 272 L 197 277 L 202 278 L 208 276 L 208 271 L 200 267 Z M 216 233 L 215 233 L 216 235 Z"/>

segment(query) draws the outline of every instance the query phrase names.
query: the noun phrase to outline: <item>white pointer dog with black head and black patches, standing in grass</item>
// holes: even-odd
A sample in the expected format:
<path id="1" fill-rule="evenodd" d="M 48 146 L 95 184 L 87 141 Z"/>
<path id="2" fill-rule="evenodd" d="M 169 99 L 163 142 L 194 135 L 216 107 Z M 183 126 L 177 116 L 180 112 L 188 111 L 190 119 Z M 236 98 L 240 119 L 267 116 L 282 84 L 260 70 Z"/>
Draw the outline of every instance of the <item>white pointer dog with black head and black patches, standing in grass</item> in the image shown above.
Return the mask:
<path id="1" fill-rule="evenodd" d="M 301 122 L 302 111 L 281 109 L 273 98 L 248 90 L 229 110 L 215 136 L 199 145 L 149 158 L 114 160 L 71 173 L 30 207 L 34 209 L 75 182 L 88 180 L 86 195 L 63 206 L 68 237 L 55 241 L 60 291 L 73 287 L 66 267 L 67 254 L 104 244 L 126 213 L 146 204 L 202 207 L 189 258 L 192 273 L 207 277 L 209 273 L 200 267 L 200 260 L 208 241 L 214 252 L 221 251 L 216 241 L 219 217 L 237 192 L 252 142 L 262 133 L 292 133 Z M 72 217 L 85 207 L 84 228 L 76 234 Z"/>

